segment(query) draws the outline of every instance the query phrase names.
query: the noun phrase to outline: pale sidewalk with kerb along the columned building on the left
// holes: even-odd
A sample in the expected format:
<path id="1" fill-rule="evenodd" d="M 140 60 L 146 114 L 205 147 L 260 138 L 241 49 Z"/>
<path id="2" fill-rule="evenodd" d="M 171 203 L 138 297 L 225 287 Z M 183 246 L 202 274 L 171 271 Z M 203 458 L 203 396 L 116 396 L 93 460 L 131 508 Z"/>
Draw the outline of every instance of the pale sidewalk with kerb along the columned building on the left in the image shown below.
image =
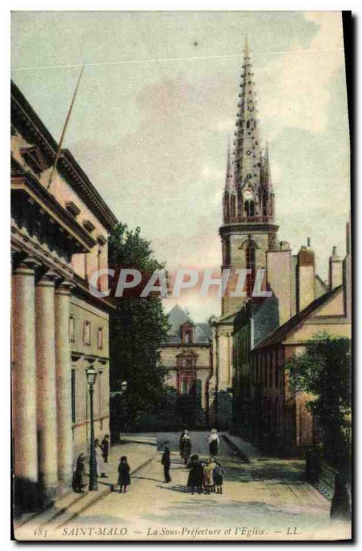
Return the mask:
<path id="1" fill-rule="evenodd" d="M 78 494 L 69 492 L 54 505 L 42 512 L 23 515 L 14 522 L 14 535 L 16 539 L 34 539 L 34 532 L 41 534 L 47 528 L 56 528 L 78 517 L 85 509 L 101 499 L 114 488 L 117 488 L 118 464 L 122 455 L 127 455 L 127 461 L 131 467 L 131 476 L 140 468 L 146 466 L 157 455 L 157 441 L 153 437 L 138 437 L 138 435 L 125 435 L 120 444 L 111 447 L 108 457 L 108 478 L 98 477 L 98 490 Z"/>

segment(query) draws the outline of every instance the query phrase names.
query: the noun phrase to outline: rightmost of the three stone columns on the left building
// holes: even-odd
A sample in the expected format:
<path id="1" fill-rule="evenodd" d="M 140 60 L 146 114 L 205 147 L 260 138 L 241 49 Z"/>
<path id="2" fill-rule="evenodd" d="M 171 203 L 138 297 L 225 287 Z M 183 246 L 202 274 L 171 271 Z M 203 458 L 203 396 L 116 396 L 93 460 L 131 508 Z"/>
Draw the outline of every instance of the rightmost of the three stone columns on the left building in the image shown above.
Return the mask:
<path id="1" fill-rule="evenodd" d="M 55 291 L 55 363 L 56 415 L 58 417 L 59 491 L 72 487 L 72 362 L 69 340 L 71 284 L 63 283 Z"/>

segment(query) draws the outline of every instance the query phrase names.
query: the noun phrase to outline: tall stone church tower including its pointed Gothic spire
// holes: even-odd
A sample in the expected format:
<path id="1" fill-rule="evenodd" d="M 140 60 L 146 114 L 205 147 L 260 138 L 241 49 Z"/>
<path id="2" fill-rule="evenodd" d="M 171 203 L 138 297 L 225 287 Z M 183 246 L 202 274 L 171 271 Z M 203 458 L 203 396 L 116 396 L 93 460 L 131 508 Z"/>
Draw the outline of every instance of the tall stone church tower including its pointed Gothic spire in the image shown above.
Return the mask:
<path id="1" fill-rule="evenodd" d="M 268 147 L 263 149 L 260 144 L 253 79 L 246 39 L 232 155 L 228 144 L 223 224 L 220 227 L 222 271 L 231 270 L 222 298 L 222 316 L 235 313 L 246 300 L 246 297 L 230 295 L 237 282 L 235 270 L 251 269 L 244 285 L 246 295 L 250 296 L 257 270 L 266 268 L 266 251 L 273 250 L 277 243 Z M 263 288 L 265 285 L 266 276 Z"/>

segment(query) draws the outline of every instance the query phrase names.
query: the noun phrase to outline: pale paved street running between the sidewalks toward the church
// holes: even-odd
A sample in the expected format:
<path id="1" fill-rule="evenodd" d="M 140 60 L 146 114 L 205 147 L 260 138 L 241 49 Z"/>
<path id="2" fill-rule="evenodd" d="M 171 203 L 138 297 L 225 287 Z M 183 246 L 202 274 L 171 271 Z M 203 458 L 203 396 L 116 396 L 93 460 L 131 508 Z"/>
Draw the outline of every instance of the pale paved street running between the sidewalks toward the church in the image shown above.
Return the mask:
<path id="1" fill-rule="evenodd" d="M 140 435 L 141 436 L 141 435 Z M 149 436 L 152 436 L 151 434 Z M 172 450 L 164 483 L 161 452 L 131 479 L 129 492 L 111 492 L 56 530 L 62 540 L 102 539 L 319 539 L 345 527 L 330 525 L 330 502 L 302 480 L 303 461 L 259 457 L 243 463 L 221 439 L 217 460 L 226 468 L 222 495 L 191 495 L 179 435 L 154 434 Z M 191 432 L 193 453 L 209 455 L 207 433 Z M 131 465 L 132 468 L 132 465 Z"/>

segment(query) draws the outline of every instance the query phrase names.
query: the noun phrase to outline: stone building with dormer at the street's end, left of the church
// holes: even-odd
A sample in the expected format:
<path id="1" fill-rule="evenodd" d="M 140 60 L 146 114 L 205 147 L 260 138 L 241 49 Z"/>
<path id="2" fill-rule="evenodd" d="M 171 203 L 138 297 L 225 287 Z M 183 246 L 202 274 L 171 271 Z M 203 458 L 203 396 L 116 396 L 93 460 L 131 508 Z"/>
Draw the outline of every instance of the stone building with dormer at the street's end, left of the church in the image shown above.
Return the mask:
<path id="1" fill-rule="evenodd" d="M 211 326 L 195 323 L 178 304 L 169 311 L 169 338 L 162 344 L 162 364 L 169 370 L 166 384 L 175 389 L 179 424 L 209 423 L 209 381 L 213 373 Z"/>

